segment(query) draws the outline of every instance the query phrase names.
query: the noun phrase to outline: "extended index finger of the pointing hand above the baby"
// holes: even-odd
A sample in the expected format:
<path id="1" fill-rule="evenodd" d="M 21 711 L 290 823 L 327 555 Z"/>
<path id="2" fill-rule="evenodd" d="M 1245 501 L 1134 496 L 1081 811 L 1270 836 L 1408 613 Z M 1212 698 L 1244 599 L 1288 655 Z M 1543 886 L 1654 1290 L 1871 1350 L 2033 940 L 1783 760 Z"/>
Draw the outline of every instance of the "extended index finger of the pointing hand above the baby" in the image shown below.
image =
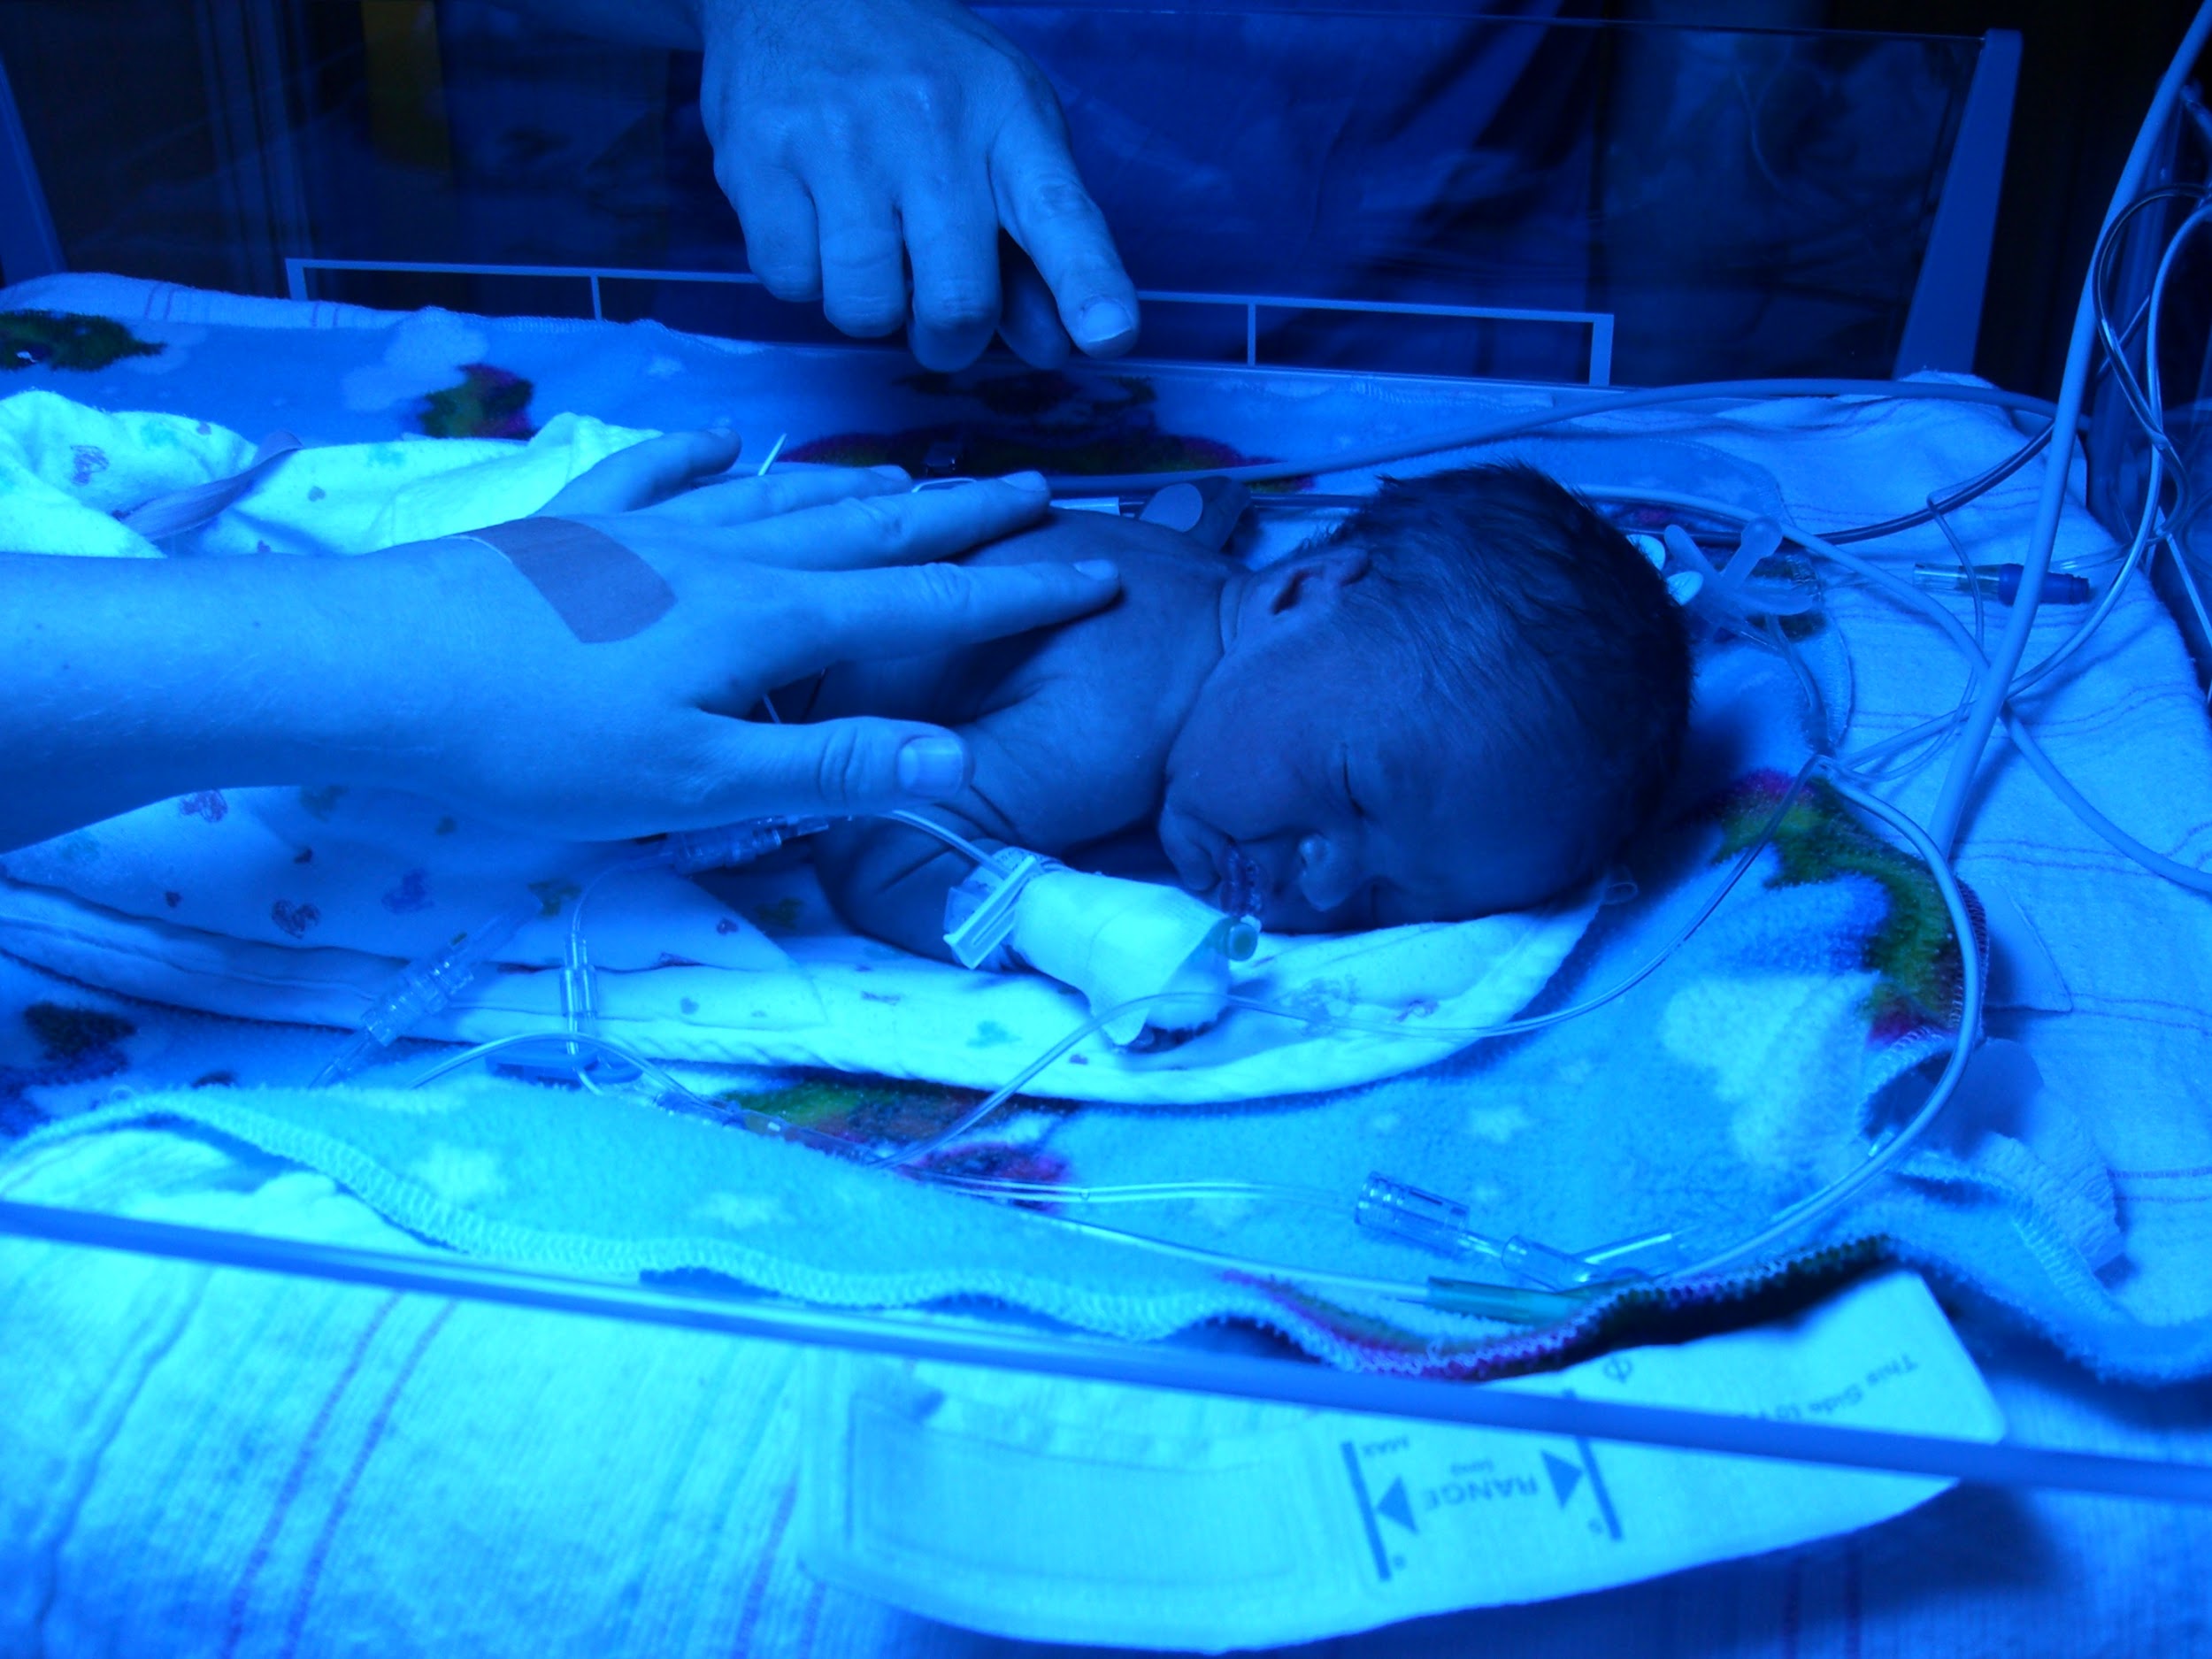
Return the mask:
<path id="1" fill-rule="evenodd" d="M 991 188 L 1006 230 L 1053 290 L 1068 336 L 1091 356 L 1119 356 L 1137 343 L 1137 285 L 1075 173 L 1060 122 L 1048 119 L 1055 113 L 1009 122 L 991 148 Z"/>

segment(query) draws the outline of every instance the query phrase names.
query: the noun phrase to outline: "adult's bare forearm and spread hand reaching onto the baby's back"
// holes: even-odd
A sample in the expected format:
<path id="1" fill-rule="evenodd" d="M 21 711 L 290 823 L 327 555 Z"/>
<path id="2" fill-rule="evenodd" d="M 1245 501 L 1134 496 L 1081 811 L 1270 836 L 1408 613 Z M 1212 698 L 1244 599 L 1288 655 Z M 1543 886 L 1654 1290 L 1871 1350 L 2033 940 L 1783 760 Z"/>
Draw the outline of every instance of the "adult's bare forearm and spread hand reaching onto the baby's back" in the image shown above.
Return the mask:
<path id="1" fill-rule="evenodd" d="M 1113 566 L 933 562 L 1040 518 L 1042 482 L 909 495 L 896 469 L 792 469 L 690 487 L 734 453 L 719 434 L 659 438 L 551 502 L 668 599 L 595 644 L 471 538 L 349 560 L 0 553 L 0 849 L 252 783 L 403 787 L 575 838 L 918 805 L 967 781 L 951 732 L 745 714 L 832 661 L 1022 633 L 1117 593 Z"/>

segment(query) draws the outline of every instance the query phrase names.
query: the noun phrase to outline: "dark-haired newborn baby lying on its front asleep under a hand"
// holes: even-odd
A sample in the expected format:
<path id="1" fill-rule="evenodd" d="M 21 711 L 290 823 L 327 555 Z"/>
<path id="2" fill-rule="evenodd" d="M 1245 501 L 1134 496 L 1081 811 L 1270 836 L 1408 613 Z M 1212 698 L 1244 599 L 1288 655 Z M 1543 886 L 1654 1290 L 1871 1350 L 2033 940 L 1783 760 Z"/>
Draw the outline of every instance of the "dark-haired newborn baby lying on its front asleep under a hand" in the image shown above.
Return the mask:
<path id="1" fill-rule="evenodd" d="M 779 708 L 953 726 L 975 770 L 933 807 L 947 827 L 1150 865 L 1274 931 L 1464 920 L 1579 885 L 1681 752 L 1690 650 L 1659 573 L 1531 467 L 1385 482 L 1263 571 L 1102 513 L 971 557 L 1110 557 L 1121 599 L 1057 633 L 843 664 Z M 814 860 L 854 929 L 951 960 L 967 858 L 858 821 Z"/>

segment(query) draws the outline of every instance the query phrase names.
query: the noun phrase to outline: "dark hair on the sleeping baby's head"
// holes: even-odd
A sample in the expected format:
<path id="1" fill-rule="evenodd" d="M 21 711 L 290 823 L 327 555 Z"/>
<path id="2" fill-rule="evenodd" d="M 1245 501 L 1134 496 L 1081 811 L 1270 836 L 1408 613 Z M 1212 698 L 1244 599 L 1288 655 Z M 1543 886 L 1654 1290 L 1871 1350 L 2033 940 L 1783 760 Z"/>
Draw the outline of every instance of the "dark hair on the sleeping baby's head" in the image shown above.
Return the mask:
<path id="1" fill-rule="evenodd" d="M 1383 480 L 1325 540 L 1369 560 L 1347 619 L 1394 630 L 1515 759 L 1562 768 L 1562 885 L 1604 867 L 1659 810 L 1690 723 L 1690 635 L 1650 562 L 1522 462 Z"/>

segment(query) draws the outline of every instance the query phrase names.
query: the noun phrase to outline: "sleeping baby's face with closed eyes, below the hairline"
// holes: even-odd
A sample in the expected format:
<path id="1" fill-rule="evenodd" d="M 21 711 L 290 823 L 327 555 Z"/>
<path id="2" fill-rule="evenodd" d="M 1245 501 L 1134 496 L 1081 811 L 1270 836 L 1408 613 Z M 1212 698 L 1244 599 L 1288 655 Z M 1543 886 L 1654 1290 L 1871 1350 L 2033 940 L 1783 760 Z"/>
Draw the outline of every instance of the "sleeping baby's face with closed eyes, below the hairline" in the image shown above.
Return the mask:
<path id="1" fill-rule="evenodd" d="M 1469 732 L 1405 648 L 1340 611 L 1307 624 L 1248 622 L 1175 739 L 1159 841 L 1183 885 L 1283 933 L 1464 920 L 1557 889 L 1535 768 Z"/>

